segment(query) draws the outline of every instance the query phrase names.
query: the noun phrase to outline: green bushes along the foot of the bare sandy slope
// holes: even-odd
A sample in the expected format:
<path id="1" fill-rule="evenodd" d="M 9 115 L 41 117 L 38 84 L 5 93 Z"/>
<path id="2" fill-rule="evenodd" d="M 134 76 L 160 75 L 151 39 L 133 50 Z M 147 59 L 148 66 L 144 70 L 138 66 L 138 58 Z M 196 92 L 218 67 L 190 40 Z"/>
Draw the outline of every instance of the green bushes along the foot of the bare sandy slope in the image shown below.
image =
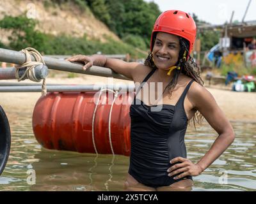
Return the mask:
<path id="1" fill-rule="evenodd" d="M 95 54 L 102 52 L 102 54 L 120 54 L 129 53 L 132 57 L 145 57 L 144 54 L 140 54 L 134 50 L 132 45 L 118 42 L 108 39 L 106 43 L 101 43 L 99 40 L 88 40 L 86 36 L 83 38 L 74 38 L 72 36 L 52 36 L 50 34 L 44 34 L 35 30 L 37 22 L 33 19 L 26 18 L 25 15 L 18 17 L 6 16 L 0 20 L 0 27 L 12 31 L 10 36 L 10 45 L 5 48 L 11 48 L 13 50 L 21 50 L 26 47 L 36 48 L 43 54 Z"/>

